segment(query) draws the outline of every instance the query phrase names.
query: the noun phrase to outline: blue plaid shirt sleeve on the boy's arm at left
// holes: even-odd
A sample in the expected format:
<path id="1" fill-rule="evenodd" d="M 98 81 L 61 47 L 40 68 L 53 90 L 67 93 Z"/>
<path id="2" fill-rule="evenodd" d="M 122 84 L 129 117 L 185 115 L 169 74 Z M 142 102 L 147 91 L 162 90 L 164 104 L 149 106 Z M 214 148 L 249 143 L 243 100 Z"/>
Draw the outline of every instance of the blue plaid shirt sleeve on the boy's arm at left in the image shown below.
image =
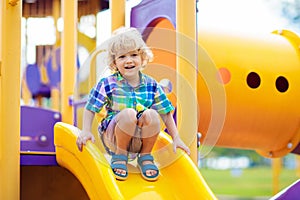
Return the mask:
<path id="1" fill-rule="evenodd" d="M 92 88 L 88 101 L 85 105 L 87 110 L 99 113 L 103 106 L 107 103 L 107 93 L 105 90 L 104 81 L 99 81 L 98 84 Z"/>

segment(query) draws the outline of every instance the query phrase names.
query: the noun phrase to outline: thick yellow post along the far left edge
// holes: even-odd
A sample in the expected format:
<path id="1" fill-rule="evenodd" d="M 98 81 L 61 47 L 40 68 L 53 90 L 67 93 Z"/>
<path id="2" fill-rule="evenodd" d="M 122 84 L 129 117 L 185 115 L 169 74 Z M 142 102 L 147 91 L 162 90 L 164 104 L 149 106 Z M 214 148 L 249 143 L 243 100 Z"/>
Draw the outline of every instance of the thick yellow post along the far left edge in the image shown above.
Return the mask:
<path id="1" fill-rule="evenodd" d="M 0 1 L 0 199 L 20 198 L 22 1 Z"/>

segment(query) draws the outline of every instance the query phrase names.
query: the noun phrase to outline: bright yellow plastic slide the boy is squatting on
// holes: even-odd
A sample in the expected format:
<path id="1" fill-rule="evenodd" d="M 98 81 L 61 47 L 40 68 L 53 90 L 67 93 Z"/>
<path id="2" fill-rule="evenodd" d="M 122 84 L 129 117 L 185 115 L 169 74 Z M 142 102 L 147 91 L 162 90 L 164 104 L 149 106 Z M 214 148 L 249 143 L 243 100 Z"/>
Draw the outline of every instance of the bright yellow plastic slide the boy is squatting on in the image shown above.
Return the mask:
<path id="1" fill-rule="evenodd" d="M 172 157 L 168 150 L 162 150 L 159 156 L 153 154 L 160 168 L 155 182 L 144 180 L 134 164 L 129 166 L 128 179 L 117 181 L 107 161 L 109 156 L 95 144 L 88 142 L 82 152 L 77 149 L 78 132 L 63 122 L 55 125 L 56 159 L 77 177 L 90 199 L 216 199 L 198 168 L 182 151 L 176 155 L 172 152 L 175 159 L 170 163 L 162 161 Z M 170 144 L 170 138 L 162 132 L 155 148 L 165 144 Z"/>

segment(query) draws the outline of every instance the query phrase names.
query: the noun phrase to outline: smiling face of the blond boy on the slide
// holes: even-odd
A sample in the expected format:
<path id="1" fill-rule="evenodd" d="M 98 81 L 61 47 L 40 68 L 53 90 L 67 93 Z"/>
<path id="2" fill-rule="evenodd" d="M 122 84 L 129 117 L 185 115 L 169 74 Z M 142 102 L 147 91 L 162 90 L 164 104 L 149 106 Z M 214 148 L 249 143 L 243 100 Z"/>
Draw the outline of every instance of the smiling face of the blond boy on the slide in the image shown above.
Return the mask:
<path id="1" fill-rule="evenodd" d="M 132 78 L 139 76 L 139 71 L 142 66 L 142 57 L 138 50 L 134 50 L 125 54 L 116 55 L 115 63 L 123 77 Z"/>

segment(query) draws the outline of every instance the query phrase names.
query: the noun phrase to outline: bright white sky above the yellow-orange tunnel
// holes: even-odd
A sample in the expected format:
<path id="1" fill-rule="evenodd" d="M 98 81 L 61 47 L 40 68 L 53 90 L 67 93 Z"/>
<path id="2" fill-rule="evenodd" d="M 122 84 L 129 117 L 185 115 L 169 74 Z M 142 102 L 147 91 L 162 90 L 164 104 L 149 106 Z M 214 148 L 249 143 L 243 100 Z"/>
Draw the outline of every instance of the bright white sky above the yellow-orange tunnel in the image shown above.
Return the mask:
<path id="1" fill-rule="evenodd" d="M 281 3 L 280 0 L 199 0 L 198 26 L 241 33 L 288 29 L 299 34 L 297 27 L 281 16 Z"/>

